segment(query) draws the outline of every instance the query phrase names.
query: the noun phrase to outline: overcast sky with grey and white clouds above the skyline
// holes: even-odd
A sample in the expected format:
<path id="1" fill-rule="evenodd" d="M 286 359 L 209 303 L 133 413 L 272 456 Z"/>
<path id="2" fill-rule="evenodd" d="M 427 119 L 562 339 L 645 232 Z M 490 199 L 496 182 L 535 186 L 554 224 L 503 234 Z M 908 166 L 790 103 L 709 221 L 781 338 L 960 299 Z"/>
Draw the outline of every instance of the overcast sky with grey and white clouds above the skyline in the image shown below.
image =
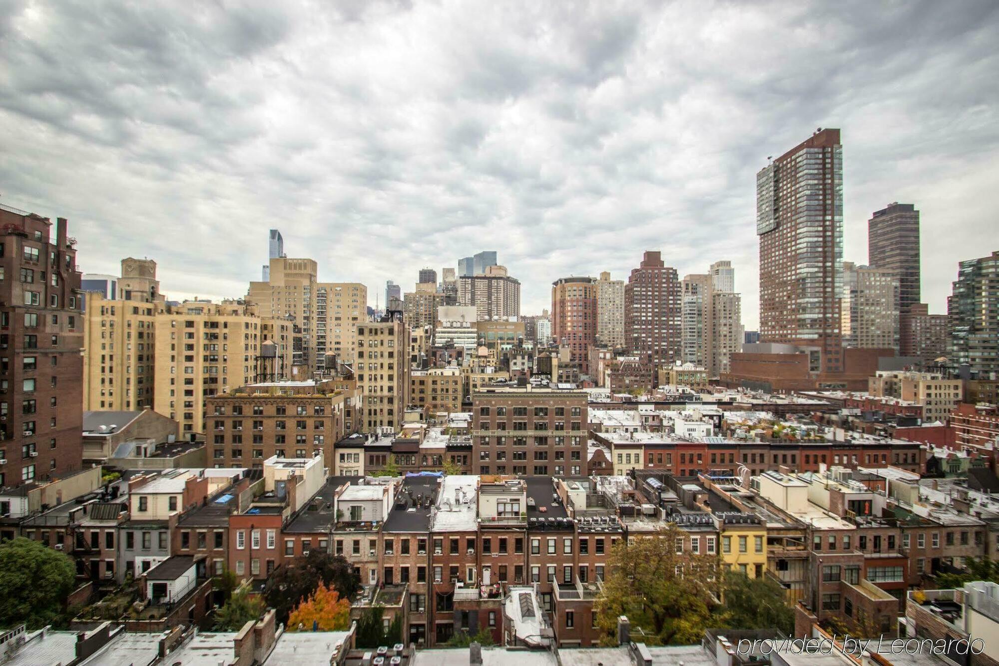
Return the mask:
<path id="1" fill-rule="evenodd" d="M 845 252 L 922 211 L 923 300 L 999 250 L 999 3 L 0 3 L 0 203 L 82 270 L 240 296 L 268 229 L 412 289 L 497 250 L 524 314 L 644 250 L 729 259 L 757 325 L 755 173 L 842 129 Z M 279 7 L 280 5 L 280 7 Z"/>

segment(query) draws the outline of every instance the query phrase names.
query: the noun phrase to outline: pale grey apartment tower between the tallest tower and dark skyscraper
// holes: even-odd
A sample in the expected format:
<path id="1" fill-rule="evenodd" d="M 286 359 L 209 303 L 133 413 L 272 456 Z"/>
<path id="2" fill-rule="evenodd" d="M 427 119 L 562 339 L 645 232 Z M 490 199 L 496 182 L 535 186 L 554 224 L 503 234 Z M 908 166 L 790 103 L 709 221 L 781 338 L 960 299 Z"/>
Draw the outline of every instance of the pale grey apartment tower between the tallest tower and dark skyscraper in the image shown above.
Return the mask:
<path id="1" fill-rule="evenodd" d="M 899 274 L 843 262 L 844 347 L 899 348 Z"/>

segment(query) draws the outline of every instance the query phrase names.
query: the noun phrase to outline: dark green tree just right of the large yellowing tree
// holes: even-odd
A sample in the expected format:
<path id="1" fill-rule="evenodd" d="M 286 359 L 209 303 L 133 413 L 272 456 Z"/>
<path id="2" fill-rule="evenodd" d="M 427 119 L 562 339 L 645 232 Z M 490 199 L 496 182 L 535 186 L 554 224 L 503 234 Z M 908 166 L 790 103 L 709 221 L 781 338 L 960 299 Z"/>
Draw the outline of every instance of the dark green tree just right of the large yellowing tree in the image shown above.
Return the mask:
<path id="1" fill-rule="evenodd" d="M 780 583 L 770 578 L 749 578 L 730 571 L 722 587 L 722 618 L 731 629 L 794 631 L 794 610 Z"/>

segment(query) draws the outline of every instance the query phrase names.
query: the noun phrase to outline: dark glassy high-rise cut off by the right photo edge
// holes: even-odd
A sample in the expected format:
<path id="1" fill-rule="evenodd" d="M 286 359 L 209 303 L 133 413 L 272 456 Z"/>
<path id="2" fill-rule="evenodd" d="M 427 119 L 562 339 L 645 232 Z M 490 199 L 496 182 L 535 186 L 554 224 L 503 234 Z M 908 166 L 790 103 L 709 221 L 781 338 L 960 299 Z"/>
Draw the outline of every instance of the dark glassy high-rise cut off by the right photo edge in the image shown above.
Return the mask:
<path id="1" fill-rule="evenodd" d="M 947 298 L 950 364 L 967 364 L 983 378 L 999 376 L 999 250 L 962 261 Z"/>

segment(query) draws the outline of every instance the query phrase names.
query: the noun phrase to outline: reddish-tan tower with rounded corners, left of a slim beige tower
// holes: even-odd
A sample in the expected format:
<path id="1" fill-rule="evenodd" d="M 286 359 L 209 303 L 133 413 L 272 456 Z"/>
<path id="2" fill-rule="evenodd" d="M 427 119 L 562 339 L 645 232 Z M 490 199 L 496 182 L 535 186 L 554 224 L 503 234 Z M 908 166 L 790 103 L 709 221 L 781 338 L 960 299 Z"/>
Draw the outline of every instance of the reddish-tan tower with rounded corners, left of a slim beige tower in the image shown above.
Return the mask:
<path id="1" fill-rule="evenodd" d="M 596 340 L 596 280 L 560 278 L 551 283 L 551 337 L 569 351 L 569 361 L 589 371 L 589 348 Z"/>

